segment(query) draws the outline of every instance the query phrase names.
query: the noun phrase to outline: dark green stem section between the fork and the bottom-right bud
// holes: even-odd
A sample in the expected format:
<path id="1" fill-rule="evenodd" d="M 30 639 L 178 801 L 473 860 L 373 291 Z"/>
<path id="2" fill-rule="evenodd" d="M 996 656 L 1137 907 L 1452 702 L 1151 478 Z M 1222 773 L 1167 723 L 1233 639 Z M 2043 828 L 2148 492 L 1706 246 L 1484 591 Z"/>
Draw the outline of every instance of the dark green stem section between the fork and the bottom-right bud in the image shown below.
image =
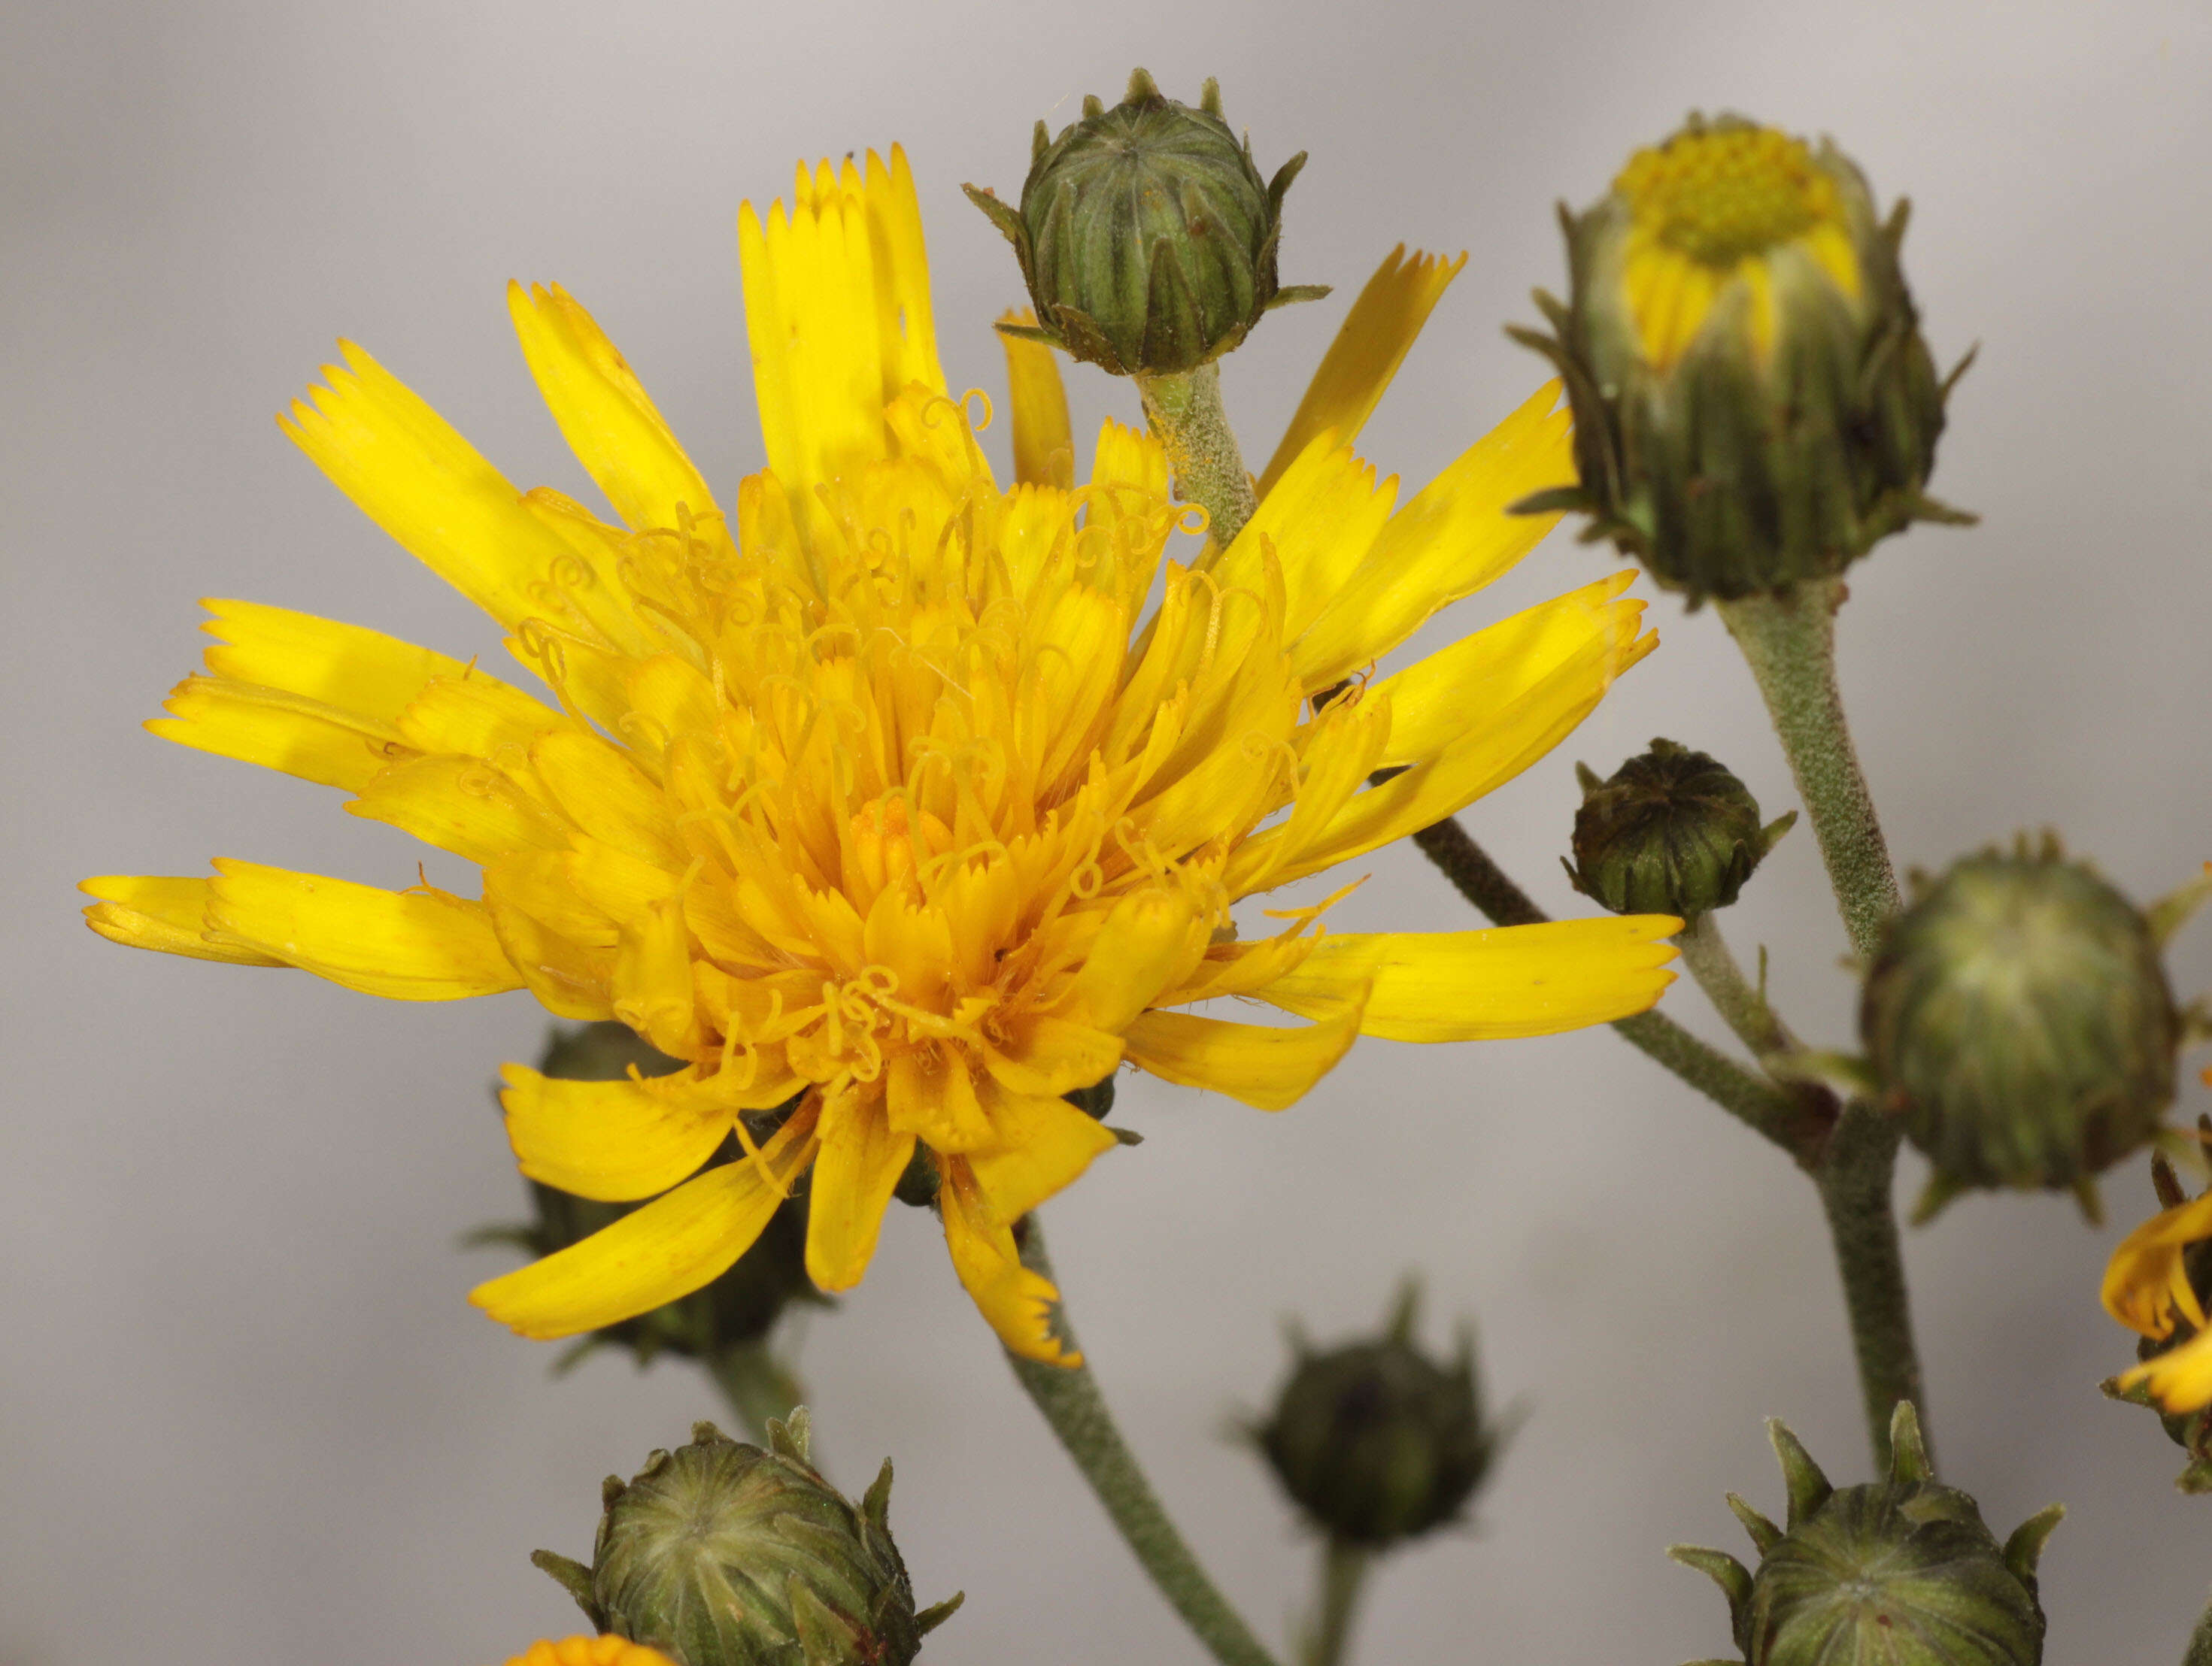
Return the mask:
<path id="1" fill-rule="evenodd" d="M 1858 1358 L 1858 1389 L 1867 1405 L 1876 1469 L 1889 1467 L 1889 1416 L 1898 1401 L 1913 1403 L 1922 1438 L 1931 1438 L 1891 1201 L 1898 1137 L 1893 1117 L 1865 1104 L 1845 1106 L 1818 1175 L 1820 1208 L 1827 1210 L 1827 1235 L 1843 1274 L 1843 1305 L 1851 1319 L 1851 1352 Z M 1933 1451 L 1933 1443 L 1929 1449 Z"/>

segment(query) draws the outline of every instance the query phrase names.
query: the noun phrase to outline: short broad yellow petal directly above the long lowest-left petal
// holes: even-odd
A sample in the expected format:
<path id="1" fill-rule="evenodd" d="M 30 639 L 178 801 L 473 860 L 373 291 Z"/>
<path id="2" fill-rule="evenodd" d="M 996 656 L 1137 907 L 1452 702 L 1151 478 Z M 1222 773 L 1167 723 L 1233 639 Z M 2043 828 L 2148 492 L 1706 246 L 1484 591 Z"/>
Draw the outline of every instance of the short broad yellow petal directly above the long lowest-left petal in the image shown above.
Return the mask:
<path id="1" fill-rule="evenodd" d="M 566 1082 L 500 1069 L 507 1139 L 529 1179 L 602 1204 L 666 1193 L 699 1173 L 737 1111 L 690 1071 L 641 1082 Z"/>

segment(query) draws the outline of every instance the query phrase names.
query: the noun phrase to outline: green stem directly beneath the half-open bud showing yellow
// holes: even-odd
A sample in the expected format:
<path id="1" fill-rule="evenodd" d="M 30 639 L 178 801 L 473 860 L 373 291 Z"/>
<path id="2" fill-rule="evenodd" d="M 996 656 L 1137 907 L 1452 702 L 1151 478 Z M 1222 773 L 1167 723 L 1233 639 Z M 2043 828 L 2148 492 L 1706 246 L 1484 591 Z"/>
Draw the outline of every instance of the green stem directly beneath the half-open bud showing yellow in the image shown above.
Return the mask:
<path id="1" fill-rule="evenodd" d="M 1898 876 L 1874 819 L 1867 777 L 1836 690 L 1836 606 L 1843 580 L 1798 584 L 1776 595 L 1721 602 L 1721 619 L 1759 679 L 1774 732 L 1790 754 L 1805 814 L 1843 909 L 1851 947 L 1871 960 L 1898 912 Z"/>

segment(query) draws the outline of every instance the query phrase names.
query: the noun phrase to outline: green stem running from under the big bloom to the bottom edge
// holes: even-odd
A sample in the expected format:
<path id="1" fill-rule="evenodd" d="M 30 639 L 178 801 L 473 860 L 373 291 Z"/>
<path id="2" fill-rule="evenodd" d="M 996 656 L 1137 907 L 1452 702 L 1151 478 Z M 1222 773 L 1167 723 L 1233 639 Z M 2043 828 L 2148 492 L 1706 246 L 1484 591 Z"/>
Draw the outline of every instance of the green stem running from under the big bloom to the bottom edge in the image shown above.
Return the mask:
<path id="1" fill-rule="evenodd" d="M 1037 1226 L 1035 1215 L 1026 1219 L 1022 1266 L 1053 1279 L 1053 1261 L 1044 1252 L 1044 1230 Z M 1057 1283 L 1057 1279 L 1053 1281 Z M 1075 1332 L 1068 1327 L 1064 1301 L 1060 1308 L 1060 1334 L 1068 1347 L 1075 1347 Z M 1044 1420 L 1053 1425 L 1060 1445 L 1068 1449 L 1075 1467 L 1084 1471 L 1084 1480 L 1091 1482 L 1091 1491 L 1106 1507 L 1106 1516 L 1113 1518 L 1115 1529 L 1137 1562 L 1152 1575 L 1152 1584 L 1159 1586 L 1159 1593 L 1183 1617 L 1192 1635 L 1206 1644 L 1206 1651 L 1223 1666 L 1276 1666 L 1274 1655 L 1261 1646 L 1252 1628 L 1228 1604 L 1228 1597 L 1214 1589 L 1214 1582 L 1206 1578 L 1206 1569 L 1199 1566 L 1190 1547 L 1183 1544 L 1183 1535 L 1175 1531 L 1175 1522 L 1161 1509 L 1159 1496 L 1144 1478 L 1144 1469 L 1137 1467 L 1137 1454 L 1128 1449 L 1128 1443 L 1115 1427 L 1113 1414 L 1106 1412 L 1106 1398 L 1099 1394 L 1091 1367 L 1077 1365 L 1075 1370 L 1066 1370 L 1064 1365 L 1040 1365 L 1013 1354 L 1006 1358 L 1013 1363 L 1013 1374 L 1029 1392 L 1029 1398 L 1035 1401 Z"/>

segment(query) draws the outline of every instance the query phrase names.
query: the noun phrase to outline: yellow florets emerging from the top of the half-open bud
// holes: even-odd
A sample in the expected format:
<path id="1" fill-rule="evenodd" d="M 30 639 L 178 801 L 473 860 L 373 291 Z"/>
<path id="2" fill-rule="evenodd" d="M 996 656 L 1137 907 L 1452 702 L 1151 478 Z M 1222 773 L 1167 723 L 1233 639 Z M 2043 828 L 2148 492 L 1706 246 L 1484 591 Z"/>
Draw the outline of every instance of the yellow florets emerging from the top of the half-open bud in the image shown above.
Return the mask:
<path id="1" fill-rule="evenodd" d="M 1692 122 L 1637 150 L 1613 181 L 1628 206 L 1621 290 L 1652 369 L 1672 367 L 1734 285 L 1752 350 L 1774 345 L 1774 261 L 1809 259 L 1851 301 L 1865 288 L 1838 164 L 1787 133 Z"/>

